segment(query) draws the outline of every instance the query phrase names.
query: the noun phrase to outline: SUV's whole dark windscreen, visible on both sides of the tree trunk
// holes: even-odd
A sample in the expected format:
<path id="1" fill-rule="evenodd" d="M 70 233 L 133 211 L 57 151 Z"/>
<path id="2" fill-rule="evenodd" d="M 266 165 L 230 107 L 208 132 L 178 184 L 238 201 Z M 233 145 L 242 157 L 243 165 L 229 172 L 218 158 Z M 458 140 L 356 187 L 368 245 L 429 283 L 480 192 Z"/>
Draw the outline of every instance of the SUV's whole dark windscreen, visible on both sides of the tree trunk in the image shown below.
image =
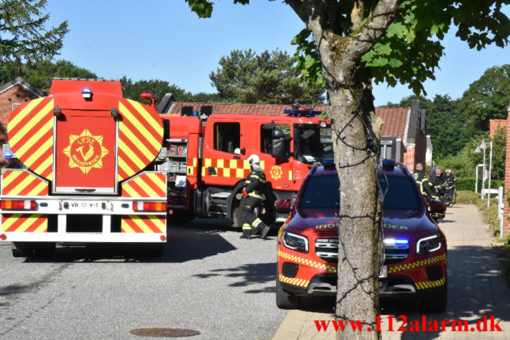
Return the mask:
<path id="1" fill-rule="evenodd" d="M 384 194 L 383 209 L 420 210 L 422 203 L 409 177 L 379 176 Z M 340 181 L 337 175 L 315 176 L 303 188 L 300 208 L 340 208 Z"/>

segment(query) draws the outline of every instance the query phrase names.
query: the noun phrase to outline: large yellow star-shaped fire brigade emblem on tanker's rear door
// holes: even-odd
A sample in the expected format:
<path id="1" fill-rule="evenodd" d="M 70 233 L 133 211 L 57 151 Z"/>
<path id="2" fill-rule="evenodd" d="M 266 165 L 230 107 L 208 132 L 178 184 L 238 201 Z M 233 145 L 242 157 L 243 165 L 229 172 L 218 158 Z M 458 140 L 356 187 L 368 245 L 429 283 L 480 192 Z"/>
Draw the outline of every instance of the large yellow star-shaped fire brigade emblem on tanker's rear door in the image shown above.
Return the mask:
<path id="1" fill-rule="evenodd" d="M 85 129 L 79 135 L 69 135 L 69 146 L 63 153 L 69 157 L 69 168 L 79 168 L 87 174 L 92 168 L 103 168 L 108 150 L 103 146 L 103 136 L 93 136 Z"/>

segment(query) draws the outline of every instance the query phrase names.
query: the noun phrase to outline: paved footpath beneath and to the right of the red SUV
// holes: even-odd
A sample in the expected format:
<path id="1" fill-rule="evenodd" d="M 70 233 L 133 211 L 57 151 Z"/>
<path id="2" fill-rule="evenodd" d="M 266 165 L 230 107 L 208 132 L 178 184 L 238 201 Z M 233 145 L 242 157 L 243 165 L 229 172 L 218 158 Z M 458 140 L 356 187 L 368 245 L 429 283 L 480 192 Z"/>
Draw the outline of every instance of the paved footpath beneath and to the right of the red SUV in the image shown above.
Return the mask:
<path id="1" fill-rule="evenodd" d="M 484 315 L 494 315 L 503 332 L 382 332 L 382 339 L 507 339 L 510 340 L 510 288 L 498 268 L 490 248 L 487 226 L 471 205 L 449 208 L 440 228 L 448 242 L 448 308 L 444 313 L 427 313 L 428 319 L 467 320 L 469 329 Z M 314 320 L 333 320 L 334 301 L 306 302 L 302 310 L 287 313 L 273 340 L 335 339 L 335 333 L 317 332 Z M 383 318 L 405 315 L 409 321 L 421 320 L 419 304 L 413 300 L 381 301 Z M 400 324 L 393 323 L 394 325 Z M 384 330 L 385 324 L 382 324 Z M 387 328 L 387 326 L 386 326 Z M 394 328 L 396 328 L 394 326 Z"/>

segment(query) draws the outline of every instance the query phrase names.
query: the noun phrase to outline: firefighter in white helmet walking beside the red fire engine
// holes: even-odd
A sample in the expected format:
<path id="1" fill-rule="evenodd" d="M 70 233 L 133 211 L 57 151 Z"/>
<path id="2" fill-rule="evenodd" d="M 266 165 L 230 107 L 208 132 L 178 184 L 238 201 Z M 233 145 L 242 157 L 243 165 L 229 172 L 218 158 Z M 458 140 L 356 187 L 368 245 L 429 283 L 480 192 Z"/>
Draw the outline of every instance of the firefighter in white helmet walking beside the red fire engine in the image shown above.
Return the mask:
<path id="1" fill-rule="evenodd" d="M 248 163 L 250 164 L 251 171 L 244 181 L 246 187 L 241 192 L 242 197 L 244 197 L 242 202 L 244 223 L 241 238 L 250 239 L 252 234 L 259 232 L 260 238 L 265 239 L 269 227 L 257 217 L 255 208 L 262 206 L 262 190 L 266 185 L 266 175 L 259 166 L 260 159 L 256 154 L 248 157 Z"/>

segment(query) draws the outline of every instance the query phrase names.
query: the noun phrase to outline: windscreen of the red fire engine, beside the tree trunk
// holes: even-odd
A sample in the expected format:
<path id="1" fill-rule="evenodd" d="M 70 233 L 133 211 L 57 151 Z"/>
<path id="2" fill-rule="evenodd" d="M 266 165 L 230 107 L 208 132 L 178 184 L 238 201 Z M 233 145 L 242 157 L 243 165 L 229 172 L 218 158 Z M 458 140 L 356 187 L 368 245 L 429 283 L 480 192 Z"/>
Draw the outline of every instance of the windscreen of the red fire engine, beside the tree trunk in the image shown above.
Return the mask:
<path id="1" fill-rule="evenodd" d="M 295 128 L 295 151 L 298 161 L 313 164 L 333 158 L 331 127 L 320 128 L 317 124 L 300 124 Z"/>

